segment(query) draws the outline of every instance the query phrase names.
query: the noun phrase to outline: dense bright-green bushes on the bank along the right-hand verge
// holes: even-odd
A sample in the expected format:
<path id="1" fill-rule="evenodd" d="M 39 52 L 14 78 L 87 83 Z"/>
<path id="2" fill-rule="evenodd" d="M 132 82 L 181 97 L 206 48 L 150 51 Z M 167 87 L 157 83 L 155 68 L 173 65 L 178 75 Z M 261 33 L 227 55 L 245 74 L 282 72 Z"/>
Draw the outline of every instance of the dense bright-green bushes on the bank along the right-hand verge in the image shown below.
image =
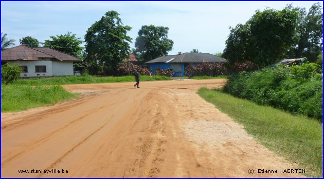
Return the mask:
<path id="1" fill-rule="evenodd" d="M 322 121 L 322 67 L 315 63 L 268 67 L 228 76 L 224 91 L 261 105 Z"/>

